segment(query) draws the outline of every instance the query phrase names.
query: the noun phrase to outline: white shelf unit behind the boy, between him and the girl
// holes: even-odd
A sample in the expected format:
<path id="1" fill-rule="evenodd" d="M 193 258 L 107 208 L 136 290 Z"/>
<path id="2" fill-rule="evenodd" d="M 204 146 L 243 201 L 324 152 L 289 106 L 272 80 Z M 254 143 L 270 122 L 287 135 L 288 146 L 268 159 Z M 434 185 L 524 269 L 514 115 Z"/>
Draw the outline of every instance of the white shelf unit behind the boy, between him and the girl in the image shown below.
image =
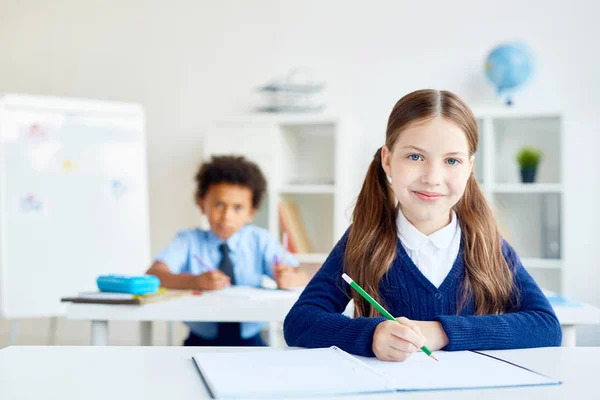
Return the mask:
<path id="1" fill-rule="evenodd" d="M 350 224 L 357 133 L 351 119 L 326 114 L 234 117 L 209 127 L 204 156 L 239 154 L 256 162 L 268 190 L 254 223 L 281 237 L 279 203 L 295 202 L 312 247 L 295 256 L 321 264 Z"/>

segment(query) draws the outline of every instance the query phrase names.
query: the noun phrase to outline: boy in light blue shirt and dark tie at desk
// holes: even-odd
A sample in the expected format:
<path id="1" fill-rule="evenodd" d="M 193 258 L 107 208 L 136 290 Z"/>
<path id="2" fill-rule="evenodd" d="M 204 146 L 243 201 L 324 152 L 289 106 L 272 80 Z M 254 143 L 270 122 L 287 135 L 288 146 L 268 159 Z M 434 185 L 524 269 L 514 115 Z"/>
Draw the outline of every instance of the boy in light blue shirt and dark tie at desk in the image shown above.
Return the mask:
<path id="1" fill-rule="evenodd" d="M 306 285 L 298 262 L 266 230 L 247 225 L 266 190 L 258 166 L 244 157 L 214 156 L 196 174 L 196 204 L 210 230 L 184 230 L 156 257 L 148 274 L 173 289 L 260 286 L 262 275 L 288 289 Z M 281 263 L 277 260 L 283 260 Z M 277 264 L 277 265 L 275 265 Z M 256 322 L 186 322 L 185 346 L 264 346 Z"/>

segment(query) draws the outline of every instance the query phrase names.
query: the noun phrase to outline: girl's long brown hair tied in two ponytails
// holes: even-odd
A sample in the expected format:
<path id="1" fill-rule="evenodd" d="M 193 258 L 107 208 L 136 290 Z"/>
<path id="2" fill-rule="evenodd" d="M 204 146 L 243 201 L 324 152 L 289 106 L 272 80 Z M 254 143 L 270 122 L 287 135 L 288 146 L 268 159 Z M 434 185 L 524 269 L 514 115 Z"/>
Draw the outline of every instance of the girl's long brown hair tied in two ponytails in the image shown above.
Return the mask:
<path id="1" fill-rule="evenodd" d="M 446 118 L 463 130 L 473 156 L 479 141 L 475 116 L 456 95 L 443 90 L 418 90 L 401 98 L 390 114 L 385 144 L 393 151 L 399 135 L 410 124 L 436 117 Z M 454 210 L 462 229 L 465 264 L 457 311 L 473 299 L 477 315 L 502 313 L 509 307 L 513 276 L 502 255 L 496 220 L 473 172 Z M 379 283 L 397 253 L 397 212 L 394 193 L 381 165 L 380 148 L 358 195 L 344 253 L 348 275 L 380 303 Z M 378 315 L 356 291 L 352 291 L 352 298 L 355 316 Z"/>

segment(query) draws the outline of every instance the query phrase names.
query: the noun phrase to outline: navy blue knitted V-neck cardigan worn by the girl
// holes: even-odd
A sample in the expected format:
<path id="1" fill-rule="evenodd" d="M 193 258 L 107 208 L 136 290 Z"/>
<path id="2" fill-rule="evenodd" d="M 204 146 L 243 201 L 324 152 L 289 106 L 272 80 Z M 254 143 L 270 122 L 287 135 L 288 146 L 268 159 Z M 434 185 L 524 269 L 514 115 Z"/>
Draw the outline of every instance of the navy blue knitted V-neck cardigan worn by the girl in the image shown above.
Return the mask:
<path id="1" fill-rule="evenodd" d="M 374 356 L 373 333 L 385 317 L 342 314 L 354 290 L 342 279 L 347 240 L 346 233 L 285 318 L 283 332 L 288 345 L 337 346 L 352 354 Z M 457 312 L 465 278 L 463 249 L 461 241 L 456 261 L 438 288 L 419 271 L 398 240 L 396 258 L 379 284 L 384 307 L 395 317 L 439 321 L 449 340 L 444 350 L 560 346 L 562 331 L 550 303 L 505 241 L 502 254 L 513 272 L 516 289 L 510 310 L 474 315 L 471 299 Z"/>

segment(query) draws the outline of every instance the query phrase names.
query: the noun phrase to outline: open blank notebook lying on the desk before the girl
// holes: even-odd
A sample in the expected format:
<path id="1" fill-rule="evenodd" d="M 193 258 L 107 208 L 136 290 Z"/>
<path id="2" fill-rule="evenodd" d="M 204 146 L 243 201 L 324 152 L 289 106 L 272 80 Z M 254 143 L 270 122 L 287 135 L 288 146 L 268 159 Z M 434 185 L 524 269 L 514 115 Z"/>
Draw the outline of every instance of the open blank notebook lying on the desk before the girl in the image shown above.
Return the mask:
<path id="1" fill-rule="evenodd" d="M 337 348 L 197 353 L 213 398 L 326 396 L 394 391 L 554 385 L 560 382 L 471 351 L 423 353 L 402 363 Z"/>

